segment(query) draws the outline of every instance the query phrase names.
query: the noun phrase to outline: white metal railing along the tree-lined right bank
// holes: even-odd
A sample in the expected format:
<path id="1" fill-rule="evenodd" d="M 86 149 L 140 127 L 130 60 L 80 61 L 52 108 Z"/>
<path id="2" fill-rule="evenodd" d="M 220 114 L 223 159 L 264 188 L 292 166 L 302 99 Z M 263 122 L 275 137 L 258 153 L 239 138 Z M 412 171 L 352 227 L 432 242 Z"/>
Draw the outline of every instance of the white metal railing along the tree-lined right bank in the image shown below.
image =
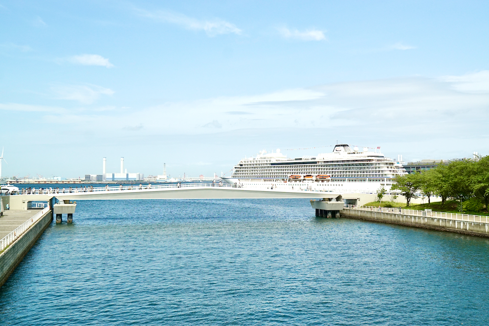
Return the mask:
<path id="1" fill-rule="evenodd" d="M 356 205 L 345 205 L 345 208 L 355 209 L 359 211 L 366 211 L 366 212 L 391 213 L 391 214 L 402 214 L 402 215 L 409 215 L 409 216 L 416 216 L 416 217 L 445 218 L 454 221 L 489 223 L 489 217 L 481 216 L 481 215 L 472 215 L 472 214 L 418 211 L 413 209 L 403 209 L 403 208 L 396 208 L 396 207 L 391 208 L 391 207 L 356 206 Z"/>

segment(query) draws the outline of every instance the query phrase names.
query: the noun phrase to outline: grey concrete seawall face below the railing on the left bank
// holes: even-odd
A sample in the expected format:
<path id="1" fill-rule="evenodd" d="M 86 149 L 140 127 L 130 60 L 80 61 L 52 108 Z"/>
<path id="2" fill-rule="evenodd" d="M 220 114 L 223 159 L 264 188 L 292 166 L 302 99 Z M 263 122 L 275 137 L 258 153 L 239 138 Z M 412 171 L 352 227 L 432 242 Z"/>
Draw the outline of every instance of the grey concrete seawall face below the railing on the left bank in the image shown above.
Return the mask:
<path id="1" fill-rule="evenodd" d="M 22 261 L 52 220 L 52 212 L 48 211 L 0 254 L 0 286 L 7 281 L 15 267 Z"/>

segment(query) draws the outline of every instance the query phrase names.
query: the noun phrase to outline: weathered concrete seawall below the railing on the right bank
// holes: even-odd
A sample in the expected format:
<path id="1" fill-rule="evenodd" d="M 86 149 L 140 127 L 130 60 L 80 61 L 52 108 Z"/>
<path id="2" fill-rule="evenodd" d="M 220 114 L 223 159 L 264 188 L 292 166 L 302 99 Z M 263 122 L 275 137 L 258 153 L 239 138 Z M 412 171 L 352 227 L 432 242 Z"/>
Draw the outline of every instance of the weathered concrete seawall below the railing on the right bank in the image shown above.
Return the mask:
<path id="1" fill-rule="evenodd" d="M 345 208 L 340 211 L 340 216 L 489 238 L 489 223 L 485 222 L 471 222 L 440 217 L 420 217 L 398 213 L 361 211 L 349 208 Z"/>

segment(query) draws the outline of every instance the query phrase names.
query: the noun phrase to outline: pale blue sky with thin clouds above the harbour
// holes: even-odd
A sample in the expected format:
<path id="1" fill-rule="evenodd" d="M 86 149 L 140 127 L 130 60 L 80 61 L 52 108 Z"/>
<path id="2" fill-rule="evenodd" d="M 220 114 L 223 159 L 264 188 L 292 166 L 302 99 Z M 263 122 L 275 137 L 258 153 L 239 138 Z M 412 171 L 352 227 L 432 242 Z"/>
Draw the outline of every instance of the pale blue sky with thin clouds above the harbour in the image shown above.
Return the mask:
<path id="1" fill-rule="evenodd" d="M 489 154 L 487 1 L 0 0 L 2 176 Z"/>

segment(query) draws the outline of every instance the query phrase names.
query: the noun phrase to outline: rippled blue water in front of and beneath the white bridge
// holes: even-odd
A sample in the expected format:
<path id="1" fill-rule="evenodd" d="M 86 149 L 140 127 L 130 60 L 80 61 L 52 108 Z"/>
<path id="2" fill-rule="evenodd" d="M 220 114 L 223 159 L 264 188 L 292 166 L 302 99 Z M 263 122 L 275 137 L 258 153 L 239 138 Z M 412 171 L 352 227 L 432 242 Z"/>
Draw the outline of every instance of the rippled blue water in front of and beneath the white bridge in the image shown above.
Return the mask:
<path id="1" fill-rule="evenodd" d="M 0 325 L 489 325 L 489 240 L 303 199 L 79 201 L 0 288 Z"/>

